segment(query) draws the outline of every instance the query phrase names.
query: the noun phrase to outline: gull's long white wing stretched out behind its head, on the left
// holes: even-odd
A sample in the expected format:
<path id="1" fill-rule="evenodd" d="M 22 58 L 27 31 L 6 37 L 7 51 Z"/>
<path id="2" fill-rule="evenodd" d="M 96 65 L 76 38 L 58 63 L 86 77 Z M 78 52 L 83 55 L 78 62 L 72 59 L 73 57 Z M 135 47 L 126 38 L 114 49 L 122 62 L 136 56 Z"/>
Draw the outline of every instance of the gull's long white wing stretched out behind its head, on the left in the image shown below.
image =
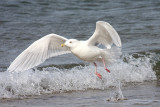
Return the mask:
<path id="1" fill-rule="evenodd" d="M 24 50 L 9 66 L 8 71 L 24 71 L 35 67 L 46 59 L 70 53 L 69 48 L 61 47 L 67 39 L 56 35 L 49 34 L 35 41 L 26 50 Z"/>

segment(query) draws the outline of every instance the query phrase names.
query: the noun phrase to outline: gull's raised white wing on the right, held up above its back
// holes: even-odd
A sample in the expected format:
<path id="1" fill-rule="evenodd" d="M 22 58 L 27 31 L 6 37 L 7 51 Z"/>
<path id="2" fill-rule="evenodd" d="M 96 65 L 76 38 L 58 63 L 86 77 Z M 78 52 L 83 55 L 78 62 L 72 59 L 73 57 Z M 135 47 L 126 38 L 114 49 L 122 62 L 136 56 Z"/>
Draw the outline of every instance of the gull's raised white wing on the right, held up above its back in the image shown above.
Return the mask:
<path id="1" fill-rule="evenodd" d="M 96 22 L 96 30 L 94 34 L 88 39 L 89 45 L 97 43 L 103 44 L 108 49 L 114 43 L 116 46 L 121 47 L 121 39 L 116 30 L 107 22 Z"/>

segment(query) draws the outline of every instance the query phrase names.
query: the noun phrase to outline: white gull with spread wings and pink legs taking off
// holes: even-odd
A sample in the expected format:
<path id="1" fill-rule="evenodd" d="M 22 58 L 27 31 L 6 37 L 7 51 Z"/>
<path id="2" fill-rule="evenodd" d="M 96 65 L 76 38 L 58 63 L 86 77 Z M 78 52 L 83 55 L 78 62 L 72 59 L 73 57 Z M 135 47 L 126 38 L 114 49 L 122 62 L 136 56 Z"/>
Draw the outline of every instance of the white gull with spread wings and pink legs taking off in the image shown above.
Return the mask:
<path id="1" fill-rule="evenodd" d="M 97 44 L 105 48 L 98 47 Z M 9 72 L 19 72 L 29 70 L 38 66 L 46 59 L 62 54 L 72 53 L 81 60 L 92 62 L 95 66 L 95 74 L 102 78 L 97 72 L 96 61 L 101 61 L 107 72 L 106 62 L 111 59 L 108 52 L 112 45 L 121 47 L 121 39 L 116 30 L 107 22 L 97 21 L 93 35 L 85 41 L 77 39 L 67 39 L 57 34 L 48 34 L 32 43 L 25 49 L 8 67 Z"/>

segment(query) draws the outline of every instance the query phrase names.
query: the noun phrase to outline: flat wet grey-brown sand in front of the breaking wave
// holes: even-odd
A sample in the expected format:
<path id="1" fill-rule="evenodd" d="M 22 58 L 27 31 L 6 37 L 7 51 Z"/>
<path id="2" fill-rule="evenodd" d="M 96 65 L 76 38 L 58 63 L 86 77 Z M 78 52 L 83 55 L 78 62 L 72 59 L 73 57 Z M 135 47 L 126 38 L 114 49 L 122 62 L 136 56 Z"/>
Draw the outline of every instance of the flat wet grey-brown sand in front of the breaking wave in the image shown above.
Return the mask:
<path id="1" fill-rule="evenodd" d="M 115 88 L 0 100 L 0 107 L 159 107 L 159 82 L 129 83 L 121 88 L 125 100 L 108 101 Z"/>

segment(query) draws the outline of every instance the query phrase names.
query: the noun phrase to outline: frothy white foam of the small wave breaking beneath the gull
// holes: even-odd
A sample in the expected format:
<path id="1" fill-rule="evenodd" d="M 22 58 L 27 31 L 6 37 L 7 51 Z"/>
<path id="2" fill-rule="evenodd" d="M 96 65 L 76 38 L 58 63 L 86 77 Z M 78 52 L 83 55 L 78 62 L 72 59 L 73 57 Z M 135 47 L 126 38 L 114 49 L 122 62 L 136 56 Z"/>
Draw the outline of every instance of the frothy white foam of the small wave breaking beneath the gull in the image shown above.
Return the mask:
<path id="1" fill-rule="evenodd" d="M 156 80 L 150 57 L 134 58 L 127 55 L 124 58 L 127 61 L 119 60 L 108 67 L 111 73 L 98 67 L 102 79 L 95 75 L 93 65 L 71 69 L 47 67 L 42 71 L 28 70 L 20 73 L 0 72 L 0 99 L 73 90 L 107 89 L 117 86 L 119 82 Z"/>

